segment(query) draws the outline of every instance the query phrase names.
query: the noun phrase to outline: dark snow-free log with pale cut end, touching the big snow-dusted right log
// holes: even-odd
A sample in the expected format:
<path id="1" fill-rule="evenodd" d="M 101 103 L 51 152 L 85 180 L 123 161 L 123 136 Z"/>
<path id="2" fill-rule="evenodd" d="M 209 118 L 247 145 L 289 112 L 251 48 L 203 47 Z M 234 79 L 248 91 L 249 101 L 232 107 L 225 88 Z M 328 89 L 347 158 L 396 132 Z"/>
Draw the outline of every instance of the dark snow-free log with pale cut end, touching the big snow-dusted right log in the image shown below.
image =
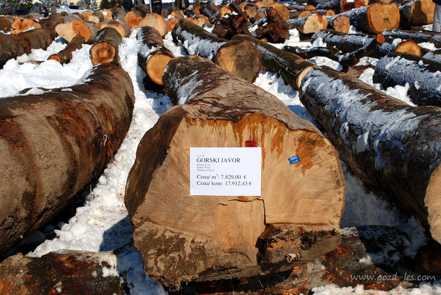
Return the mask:
<path id="1" fill-rule="evenodd" d="M 264 41 L 246 35 L 236 35 L 233 40 L 253 42 L 262 57 L 262 66 L 273 73 L 279 73 L 289 85 L 299 90 L 303 76 L 313 64 L 292 53 L 278 49 Z"/>

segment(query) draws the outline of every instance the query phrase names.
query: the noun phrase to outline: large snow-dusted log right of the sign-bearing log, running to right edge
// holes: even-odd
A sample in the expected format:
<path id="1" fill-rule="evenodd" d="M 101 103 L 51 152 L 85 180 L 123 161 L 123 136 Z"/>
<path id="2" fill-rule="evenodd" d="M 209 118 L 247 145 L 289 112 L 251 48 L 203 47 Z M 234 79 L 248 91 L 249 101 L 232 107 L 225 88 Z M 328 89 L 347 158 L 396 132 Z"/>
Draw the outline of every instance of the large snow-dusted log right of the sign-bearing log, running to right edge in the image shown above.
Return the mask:
<path id="1" fill-rule="evenodd" d="M 411 107 L 327 67 L 311 69 L 299 94 L 352 171 L 440 242 L 441 109 Z"/>

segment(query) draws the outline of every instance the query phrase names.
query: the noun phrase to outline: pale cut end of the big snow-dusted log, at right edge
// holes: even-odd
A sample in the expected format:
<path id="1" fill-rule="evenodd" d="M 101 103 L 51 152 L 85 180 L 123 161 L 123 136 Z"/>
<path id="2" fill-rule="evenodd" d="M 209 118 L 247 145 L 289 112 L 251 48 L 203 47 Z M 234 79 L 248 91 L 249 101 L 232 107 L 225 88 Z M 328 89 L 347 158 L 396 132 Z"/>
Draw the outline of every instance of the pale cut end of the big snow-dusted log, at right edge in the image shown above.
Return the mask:
<path id="1" fill-rule="evenodd" d="M 441 166 L 437 166 L 432 174 L 426 189 L 424 206 L 427 208 L 427 221 L 430 233 L 436 241 L 441 243 Z"/>

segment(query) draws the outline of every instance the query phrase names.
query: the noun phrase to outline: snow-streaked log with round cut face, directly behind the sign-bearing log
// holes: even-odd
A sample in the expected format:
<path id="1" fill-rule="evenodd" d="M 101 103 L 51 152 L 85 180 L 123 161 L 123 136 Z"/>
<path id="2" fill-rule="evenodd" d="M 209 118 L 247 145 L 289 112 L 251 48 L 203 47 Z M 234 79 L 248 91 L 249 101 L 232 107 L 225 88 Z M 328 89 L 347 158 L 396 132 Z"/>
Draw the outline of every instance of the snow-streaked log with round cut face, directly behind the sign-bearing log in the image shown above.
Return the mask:
<path id="1" fill-rule="evenodd" d="M 254 82 L 260 73 L 262 61 L 259 51 L 248 41 L 233 42 L 217 38 L 184 19 L 178 21 L 171 36 L 189 54 L 211 59 L 223 69 L 249 82 Z"/>

